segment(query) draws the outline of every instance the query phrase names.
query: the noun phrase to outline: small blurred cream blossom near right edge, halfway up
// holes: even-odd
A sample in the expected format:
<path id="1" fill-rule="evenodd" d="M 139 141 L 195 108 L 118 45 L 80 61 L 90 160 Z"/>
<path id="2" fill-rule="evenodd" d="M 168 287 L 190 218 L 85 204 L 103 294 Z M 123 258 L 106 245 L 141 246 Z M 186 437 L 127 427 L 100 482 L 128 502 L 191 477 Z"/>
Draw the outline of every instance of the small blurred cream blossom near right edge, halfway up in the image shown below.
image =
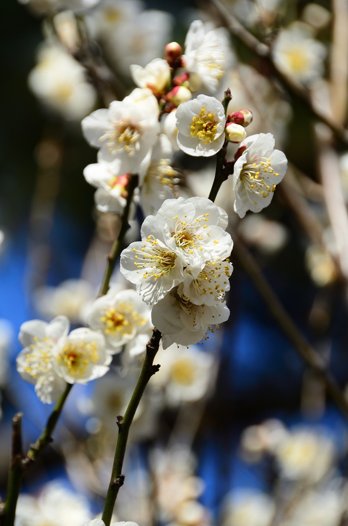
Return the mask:
<path id="1" fill-rule="evenodd" d="M 305 252 L 305 264 L 315 285 L 325 287 L 337 279 L 332 256 L 322 245 L 310 245 Z"/>

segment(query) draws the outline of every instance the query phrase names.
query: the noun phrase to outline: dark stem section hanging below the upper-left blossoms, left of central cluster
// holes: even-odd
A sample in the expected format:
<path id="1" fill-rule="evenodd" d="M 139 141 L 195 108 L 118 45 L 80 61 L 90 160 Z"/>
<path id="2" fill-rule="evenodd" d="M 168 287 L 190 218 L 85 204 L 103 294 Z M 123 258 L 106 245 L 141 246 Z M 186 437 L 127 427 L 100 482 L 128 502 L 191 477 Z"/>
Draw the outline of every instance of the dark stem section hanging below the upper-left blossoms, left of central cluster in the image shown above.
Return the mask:
<path id="1" fill-rule="evenodd" d="M 139 178 L 137 174 L 132 174 L 130 176 L 128 188 L 127 188 L 128 190 L 127 203 L 125 206 L 124 214 L 122 216 L 121 229 L 120 229 L 118 238 L 115 239 L 114 245 L 112 245 L 110 254 L 107 256 L 105 275 L 104 275 L 103 283 L 101 284 L 99 296 L 104 296 L 109 290 L 109 282 L 112 276 L 112 272 L 114 272 L 117 258 L 120 255 L 120 252 L 122 250 L 122 244 L 123 244 L 126 232 L 129 228 L 129 225 L 128 225 L 129 209 L 130 209 L 131 201 L 134 195 L 134 190 L 138 186 L 138 179 Z"/>

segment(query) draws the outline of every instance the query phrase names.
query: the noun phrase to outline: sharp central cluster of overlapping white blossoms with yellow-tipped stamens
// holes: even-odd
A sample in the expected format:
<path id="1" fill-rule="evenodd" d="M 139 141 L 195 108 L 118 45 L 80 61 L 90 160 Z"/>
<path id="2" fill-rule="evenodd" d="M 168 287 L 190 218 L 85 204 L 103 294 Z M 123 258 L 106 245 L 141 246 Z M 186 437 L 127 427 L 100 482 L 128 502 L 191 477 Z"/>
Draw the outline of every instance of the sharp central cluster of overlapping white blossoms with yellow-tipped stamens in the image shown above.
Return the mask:
<path id="1" fill-rule="evenodd" d="M 141 227 L 141 241 L 121 254 L 122 274 L 152 305 L 152 323 L 172 343 L 199 342 L 226 321 L 233 242 L 227 214 L 209 199 L 167 199 Z"/>

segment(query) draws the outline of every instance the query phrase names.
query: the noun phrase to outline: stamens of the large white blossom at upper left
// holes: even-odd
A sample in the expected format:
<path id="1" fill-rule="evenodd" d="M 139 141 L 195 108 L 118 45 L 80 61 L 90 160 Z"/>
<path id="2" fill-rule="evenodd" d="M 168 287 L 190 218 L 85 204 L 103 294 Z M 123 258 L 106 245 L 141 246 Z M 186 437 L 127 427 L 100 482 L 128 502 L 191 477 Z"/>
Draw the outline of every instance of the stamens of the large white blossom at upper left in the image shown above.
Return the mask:
<path id="1" fill-rule="evenodd" d="M 99 140 L 107 140 L 106 146 L 111 155 L 126 151 L 129 157 L 132 157 L 140 148 L 139 139 L 140 133 L 134 124 L 124 120 L 112 120 L 111 128 L 106 130 Z"/>

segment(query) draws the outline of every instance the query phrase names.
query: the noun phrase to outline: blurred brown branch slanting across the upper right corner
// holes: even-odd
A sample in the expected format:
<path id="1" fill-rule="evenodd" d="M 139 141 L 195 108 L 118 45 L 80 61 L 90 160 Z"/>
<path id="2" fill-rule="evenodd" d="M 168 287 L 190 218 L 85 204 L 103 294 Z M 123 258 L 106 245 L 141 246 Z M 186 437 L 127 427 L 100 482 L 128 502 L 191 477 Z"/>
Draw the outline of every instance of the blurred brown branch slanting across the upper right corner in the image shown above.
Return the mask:
<path id="1" fill-rule="evenodd" d="M 263 70 L 269 70 L 269 72 L 281 82 L 289 94 L 296 99 L 301 100 L 308 107 L 310 113 L 315 119 L 326 124 L 326 126 L 329 126 L 335 137 L 348 145 L 348 131 L 331 115 L 313 104 L 310 92 L 294 75 L 285 75 L 281 72 L 281 70 L 274 64 L 272 49 L 270 46 L 260 42 L 248 31 L 248 29 L 245 29 L 245 27 L 229 13 L 228 9 L 224 7 L 219 0 L 204 0 L 204 3 L 210 7 L 212 15 L 216 18 L 219 24 L 227 27 L 228 31 L 234 38 L 237 38 L 244 47 L 247 47 L 251 52 L 257 55 L 259 59 L 261 59 L 260 62 L 263 62 L 261 68 Z M 267 63 L 266 65 L 264 64 L 265 62 Z"/>

